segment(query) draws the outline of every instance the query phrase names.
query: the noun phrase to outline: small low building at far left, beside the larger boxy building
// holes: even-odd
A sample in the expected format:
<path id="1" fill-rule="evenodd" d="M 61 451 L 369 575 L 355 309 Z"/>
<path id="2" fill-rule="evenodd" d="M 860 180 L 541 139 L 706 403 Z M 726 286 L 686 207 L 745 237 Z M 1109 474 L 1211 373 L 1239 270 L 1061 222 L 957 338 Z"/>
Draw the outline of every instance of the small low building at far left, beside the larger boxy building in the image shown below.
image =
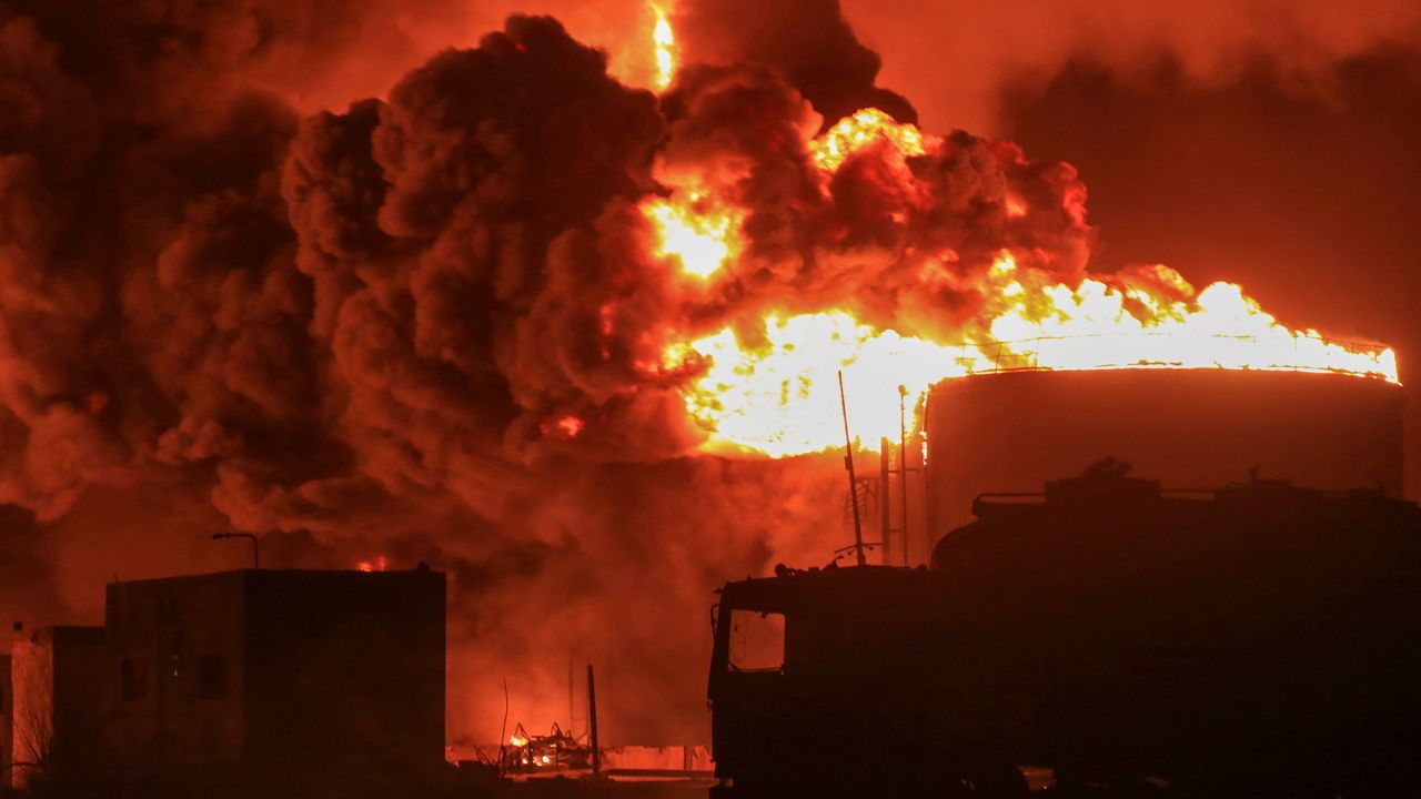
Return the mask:
<path id="1" fill-rule="evenodd" d="M 77 769 L 99 755 L 107 708 L 102 627 L 40 627 L 10 647 L 11 783 L 37 768 Z"/>

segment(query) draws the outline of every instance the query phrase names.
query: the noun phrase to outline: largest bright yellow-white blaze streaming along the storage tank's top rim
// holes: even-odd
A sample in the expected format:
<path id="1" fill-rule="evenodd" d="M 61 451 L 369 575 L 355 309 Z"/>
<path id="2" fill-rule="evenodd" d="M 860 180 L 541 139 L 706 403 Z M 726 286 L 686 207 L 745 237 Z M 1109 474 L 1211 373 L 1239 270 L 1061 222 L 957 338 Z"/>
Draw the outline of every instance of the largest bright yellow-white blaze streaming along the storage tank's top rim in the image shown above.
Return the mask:
<path id="1" fill-rule="evenodd" d="M 847 310 L 764 317 L 764 340 L 746 345 L 726 327 L 672 344 L 668 363 L 691 357 L 703 374 L 684 391 L 706 431 L 705 449 L 774 458 L 840 446 L 837 372 L 845 378 L 855 442 L 898 435 L 898 385 L 919 407 L 941 381 L 1006 370 L 1228 368 L 1320 371 L 1397 382 L 1390 348 L 1327 341 L 1280 326 L 1232 283 L 1195 293 L 1155 267 L 1188 300 L 1142 287 L 1083 280 L 1029 286 L 1003 253 L 988 280 L 1005 300 L 983 336 L 944 344 L 863 324 Z"/>

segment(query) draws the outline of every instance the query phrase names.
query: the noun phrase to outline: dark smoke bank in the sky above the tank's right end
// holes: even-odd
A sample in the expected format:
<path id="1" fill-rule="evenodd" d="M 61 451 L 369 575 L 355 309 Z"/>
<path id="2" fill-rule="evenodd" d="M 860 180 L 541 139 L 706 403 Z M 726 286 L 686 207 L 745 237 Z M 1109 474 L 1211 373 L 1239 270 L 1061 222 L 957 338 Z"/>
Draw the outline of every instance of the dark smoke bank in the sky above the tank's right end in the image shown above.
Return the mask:
<path id="1" fill-rule="evenodd" d="M 1303 71 L 1260 55 L 1208 82 L 1168 55 L 1145 71 L 1080 60 L 1005 97 L 1013 138 L 1090 181 L 1098 269 L 1157 259 L 1241 281 L 1296 326 L 1393 344 L 1401 381 L 1421 381 L 1421 48 Z"/>

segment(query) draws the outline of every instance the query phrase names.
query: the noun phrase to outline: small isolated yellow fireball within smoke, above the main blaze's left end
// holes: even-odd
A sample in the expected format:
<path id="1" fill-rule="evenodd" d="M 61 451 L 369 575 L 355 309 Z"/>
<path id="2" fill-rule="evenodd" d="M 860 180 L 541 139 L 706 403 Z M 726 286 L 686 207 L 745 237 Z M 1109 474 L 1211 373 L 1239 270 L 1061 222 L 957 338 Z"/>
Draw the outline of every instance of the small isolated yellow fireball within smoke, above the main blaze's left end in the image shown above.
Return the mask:
<path id="1" fill-rule="evenodd" d="M 739 254 L 739 216 L 705 192 L 675 192 L 642 205 L 657 229 L 655 254 L 679 262 L 686 274 L 706 279 Z"/>

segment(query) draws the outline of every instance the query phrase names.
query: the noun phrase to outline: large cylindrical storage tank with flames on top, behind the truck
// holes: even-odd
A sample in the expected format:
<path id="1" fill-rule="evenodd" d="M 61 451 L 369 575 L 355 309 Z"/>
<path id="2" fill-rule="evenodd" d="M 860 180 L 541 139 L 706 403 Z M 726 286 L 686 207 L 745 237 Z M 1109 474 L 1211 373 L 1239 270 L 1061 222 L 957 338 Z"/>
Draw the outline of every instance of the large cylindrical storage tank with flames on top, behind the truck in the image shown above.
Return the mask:
<path id="1" fill-rule="evenodd" d="M 1015 371 L 948 380 L 928 395 L 932 542 L 985 492 L 1040 492 L 1106 456 L 1164 488 L 1265 478 L 1330 490 L 1403 483 L 1400 385 L 1241 370 Z"/>

